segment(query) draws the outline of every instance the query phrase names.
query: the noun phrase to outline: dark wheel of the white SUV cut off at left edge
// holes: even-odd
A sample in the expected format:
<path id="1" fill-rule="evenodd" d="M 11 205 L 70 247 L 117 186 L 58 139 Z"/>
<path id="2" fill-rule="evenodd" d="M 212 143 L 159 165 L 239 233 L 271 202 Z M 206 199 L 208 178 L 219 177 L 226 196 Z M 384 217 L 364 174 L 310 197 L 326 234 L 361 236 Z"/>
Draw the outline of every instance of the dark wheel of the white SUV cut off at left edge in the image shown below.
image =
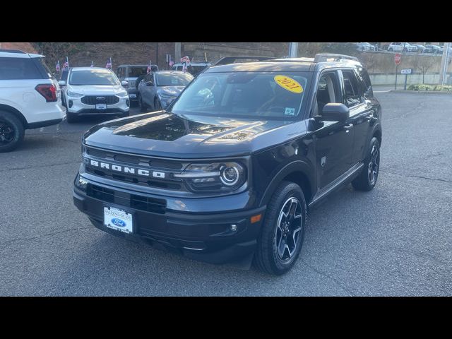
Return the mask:
<path id="1" fill-rule="evenodd" d="M 25 129 L 18 117 L 11 112 L 0 111 L 0 153 L 17 148 L 24 135 Z"/>

